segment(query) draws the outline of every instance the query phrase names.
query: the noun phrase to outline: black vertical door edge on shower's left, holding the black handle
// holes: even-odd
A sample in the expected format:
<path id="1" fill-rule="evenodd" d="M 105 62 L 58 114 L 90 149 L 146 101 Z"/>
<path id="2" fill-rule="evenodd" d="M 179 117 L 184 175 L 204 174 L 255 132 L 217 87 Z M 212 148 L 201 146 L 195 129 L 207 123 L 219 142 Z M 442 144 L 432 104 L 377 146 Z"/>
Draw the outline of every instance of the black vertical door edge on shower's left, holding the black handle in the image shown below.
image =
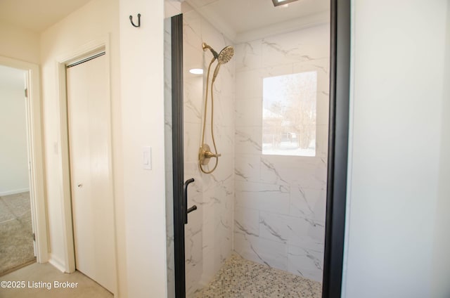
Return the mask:
<path id="1" fill-rule="evenodd" d="M 174 182 L 175 297 L 186 297 L 184 264 L 184 151 L 183 151 L 183 15 L 172 27 L 172 169 Z"/>

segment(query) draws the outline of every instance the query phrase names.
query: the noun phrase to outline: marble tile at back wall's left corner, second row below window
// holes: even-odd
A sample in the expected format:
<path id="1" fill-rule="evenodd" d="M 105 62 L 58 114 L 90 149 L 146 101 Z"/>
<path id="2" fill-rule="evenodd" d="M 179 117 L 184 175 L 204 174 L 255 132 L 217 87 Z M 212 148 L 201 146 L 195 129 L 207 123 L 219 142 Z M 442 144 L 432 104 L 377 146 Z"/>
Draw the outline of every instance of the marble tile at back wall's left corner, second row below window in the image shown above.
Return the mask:
<path id="1" fill-rule="evenodd" d="M 236 207 L 289 213 L 289 188 L 276 184 L 236 181 Z"/>

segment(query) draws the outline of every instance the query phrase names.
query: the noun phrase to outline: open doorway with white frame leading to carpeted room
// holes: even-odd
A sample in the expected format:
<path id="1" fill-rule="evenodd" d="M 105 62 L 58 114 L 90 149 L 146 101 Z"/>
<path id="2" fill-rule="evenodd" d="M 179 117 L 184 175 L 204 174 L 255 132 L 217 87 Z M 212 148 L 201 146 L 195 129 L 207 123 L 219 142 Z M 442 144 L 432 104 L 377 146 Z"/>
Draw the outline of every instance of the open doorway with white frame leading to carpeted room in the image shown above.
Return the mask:
<path id="1" fill-rule="evenodd" d="M 48 260 L 37 65 L 0 57 L 0 275 Z"/>

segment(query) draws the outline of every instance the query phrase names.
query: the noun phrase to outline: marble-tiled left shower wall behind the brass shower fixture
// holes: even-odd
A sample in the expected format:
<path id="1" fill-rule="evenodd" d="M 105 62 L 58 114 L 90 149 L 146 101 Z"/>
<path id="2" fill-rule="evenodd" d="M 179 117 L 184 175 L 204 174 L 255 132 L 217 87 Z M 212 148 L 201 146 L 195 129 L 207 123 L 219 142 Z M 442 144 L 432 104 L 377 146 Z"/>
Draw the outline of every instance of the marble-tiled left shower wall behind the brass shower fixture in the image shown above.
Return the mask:
<path id="1" fill-rule="evenodd" d="M 189 214 L 185 228 L 188 297 L 212 280 L 233 248 L 235 61 L 221 66 L 214 83 L 214 136 L 221 157 L 212 174 L 203 174 L 198 169 L 198 148 L 206 75 L 187 72 L 193 67 L 203 67 L 206 74 L 212 54 L 203 51 L 203 41 L 216 51 L 231 44 L 198 13 L 184 12 L 184 172 L 185 179 L 195 179 L 189 186 L 188 207 L 198 207 Z M 209 100 L 208 110 L 210 107 Z M 205 143 L 212 148 L 210 123 L 208 116 Z M 210 161 L 210 169 L 214 162 Z"/>

